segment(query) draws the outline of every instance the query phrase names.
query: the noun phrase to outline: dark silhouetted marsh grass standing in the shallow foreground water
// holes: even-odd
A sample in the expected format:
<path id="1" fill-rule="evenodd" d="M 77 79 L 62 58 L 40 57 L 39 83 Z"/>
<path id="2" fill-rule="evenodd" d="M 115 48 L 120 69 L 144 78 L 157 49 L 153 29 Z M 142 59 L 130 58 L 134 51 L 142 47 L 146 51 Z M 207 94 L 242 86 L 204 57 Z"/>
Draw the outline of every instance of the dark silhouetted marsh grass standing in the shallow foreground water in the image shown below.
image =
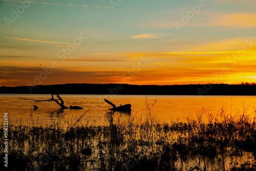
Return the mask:
<path id="1" fill-rule="evenodd" d="M 106 112 L 107 125 L 81 124 L 85 114 L 71 121 L 63 114 L 50 126 L 32 117 L 28 126 L 9 125 L 8 170 L 256 170 L 255 116 L 202 109 L 197 120 L 166 124 L 151 116 L 154 103 L 146 105 L 143 120 Z"/>

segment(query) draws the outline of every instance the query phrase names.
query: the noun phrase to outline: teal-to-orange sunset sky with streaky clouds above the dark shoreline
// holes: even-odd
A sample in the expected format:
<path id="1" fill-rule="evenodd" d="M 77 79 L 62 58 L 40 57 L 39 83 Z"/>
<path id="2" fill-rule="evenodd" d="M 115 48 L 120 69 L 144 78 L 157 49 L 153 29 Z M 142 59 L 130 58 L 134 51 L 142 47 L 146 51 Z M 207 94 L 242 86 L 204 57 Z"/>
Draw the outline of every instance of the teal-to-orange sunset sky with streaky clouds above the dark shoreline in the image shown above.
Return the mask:
<path id="1" fill-rule="evenodd" d="M 256 82 L 255 0 L 0 0 L 0 18 L 0 86 Z"/>

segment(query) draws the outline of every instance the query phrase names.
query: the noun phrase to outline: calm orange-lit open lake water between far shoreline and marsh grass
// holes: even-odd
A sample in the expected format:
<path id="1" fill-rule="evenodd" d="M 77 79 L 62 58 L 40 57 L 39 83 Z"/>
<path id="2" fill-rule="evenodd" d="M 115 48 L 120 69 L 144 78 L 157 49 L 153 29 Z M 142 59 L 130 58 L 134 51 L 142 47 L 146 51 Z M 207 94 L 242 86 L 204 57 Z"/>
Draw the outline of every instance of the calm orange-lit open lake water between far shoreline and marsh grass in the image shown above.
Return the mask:
<path id="1" fill-rule="evenodd" d="M 187 121 L 196 119 L 196 115 L 202 108 L 210 111 L 213 115 L 220 114 L 223 108 L 226 114 L 231 113 L 232 116 L 239 116 L 246 108 L 246 114 L 254 117 L 253 107 L 256 106 L 256 96 L 151 96 L 151 95 L 60 95 L 66 106 L 78 105 L 84 108 L 83 110 L 67 109 L 60 113 L 60 108 L 55 102 L 34 102 L 24 100 L 22 98 L 31 98 L 38 100 L 50 99 L 51 95 L 30 95 L 30 94 L 0 94 L 0 109 L 1 122 L 3 123 L 4 113 L 8 112 L 9 123 L 21 124 L 52 124 L 58 120 L 67 123 L 74 123 L 83 113 L 82 124 L 96 123 L 105 124 L 105 113 L 111 108 L 111 105 L 104 101 L 107 98 L 117 106 L 119 104 L 132 104 L 131 114 L 121 114 L 121 120 L 129 118 L 140 119 L 147 114 L 146 103 L 150 106 L 157 102 L 151 109 L 152 117 L 161 122 L 170 123 L 174 121 Z M 39 108 L 33 110 L 33 105 L 36 104 Z M 119 113 L 120 114 L 120 113 Z M 64 116 L 63 116 L 64 115 Z M 203 120 L 206 116 L 202 116 Z M 1 124 L 2 124 L 1 123 Z"/>

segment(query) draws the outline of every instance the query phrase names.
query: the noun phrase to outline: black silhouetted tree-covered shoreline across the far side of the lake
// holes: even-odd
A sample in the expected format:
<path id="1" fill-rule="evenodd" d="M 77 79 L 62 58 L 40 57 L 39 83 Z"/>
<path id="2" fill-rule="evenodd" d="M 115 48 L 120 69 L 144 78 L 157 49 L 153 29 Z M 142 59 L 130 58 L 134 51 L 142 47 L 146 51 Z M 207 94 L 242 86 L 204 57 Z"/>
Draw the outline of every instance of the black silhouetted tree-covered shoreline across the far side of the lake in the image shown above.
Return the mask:
<path id="1" fill-rule="evenodd" d="M 256 84 L 132 85 L 68 83 L 33 87 L 0 87 L 0 94 L 90 94 L 90 95 L 226 95 L 255 96 Z"/>

